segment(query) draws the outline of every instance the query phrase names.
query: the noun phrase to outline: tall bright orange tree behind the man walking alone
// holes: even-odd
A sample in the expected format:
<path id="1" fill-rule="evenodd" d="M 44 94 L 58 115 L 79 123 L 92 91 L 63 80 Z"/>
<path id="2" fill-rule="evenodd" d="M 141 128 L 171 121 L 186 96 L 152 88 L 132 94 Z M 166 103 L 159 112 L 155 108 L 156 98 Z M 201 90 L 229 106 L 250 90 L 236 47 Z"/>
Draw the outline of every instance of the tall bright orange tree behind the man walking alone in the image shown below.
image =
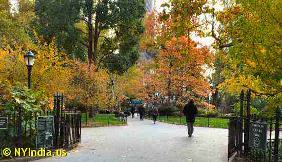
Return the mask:
<path id="1" fill-rule="evenodd" d="M 158 53 L 153 62 L 154 68 L 148 71 L 158 82 L 154 84 L 162 87 L 159 93 L 166 98 L 167 106 L 171 105 L 173 98 L 176 104 L 182 106 L 187 98 L 197 98 L 203 102 L 202 99 L 207 98 L 211 92 L 207 77 L 203 74 L 206 67 L 212 66 L 213 55 L 208 47 L 191 39 L 192 33 L 201 33 L 195 17 L 187 16 L 186 25 L 189 24 L 190 28 L 184 30 L 178 24 L 183 23 L 179 18 L 181 16 L 174 13 L 149 15 L 141 44 L 144 50 L 155 50 Z M 203 104 L 212 107 L 206 102 Z"/>

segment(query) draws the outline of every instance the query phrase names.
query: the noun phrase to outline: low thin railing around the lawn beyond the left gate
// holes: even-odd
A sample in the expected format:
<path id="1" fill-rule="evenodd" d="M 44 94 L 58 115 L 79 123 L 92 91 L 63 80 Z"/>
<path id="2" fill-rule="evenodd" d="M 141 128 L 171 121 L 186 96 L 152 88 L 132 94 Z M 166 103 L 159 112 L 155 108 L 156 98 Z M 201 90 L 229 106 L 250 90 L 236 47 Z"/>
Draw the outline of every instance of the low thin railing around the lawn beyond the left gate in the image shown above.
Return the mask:
<path id="1" fill-rule="evenodd" d="M 99 127 L 108 125 L 125 125 L 127 124 L 127 114 L 123 112 L 115 114 L 95 113 L 93 117 L 88 112 L 82 113 L 83 127 Z"/>

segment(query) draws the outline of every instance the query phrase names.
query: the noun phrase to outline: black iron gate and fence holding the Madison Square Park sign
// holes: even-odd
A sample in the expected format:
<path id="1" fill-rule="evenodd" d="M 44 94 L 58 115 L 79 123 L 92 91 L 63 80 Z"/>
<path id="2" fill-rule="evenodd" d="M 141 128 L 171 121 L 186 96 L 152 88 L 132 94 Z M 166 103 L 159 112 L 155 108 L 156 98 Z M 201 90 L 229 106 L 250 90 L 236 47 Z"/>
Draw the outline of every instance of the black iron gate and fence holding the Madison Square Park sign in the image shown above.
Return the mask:
<path id="1" fill-rule="evenodd" d="M 267 118 L 258 115 L 251 115 L 251 89 L 245 95 L 244 91 L 240 94 L 240 116 L 230 118 L 229 138 L 228 138 L 228 158 L 238 152 L 238 156 L 250 161 L 282 161 L 282 119 L 280 109 L 277 108 L 275 118 Z M 266 138 L 262 142 L 266 143 L 266 149 L 251 147 L 253 141 L 250 123 L 261 123 L 266 125 Z M 243 138 L 244 137 L 244 138 Z M 254 139 L 253 139 L 254 140 Z M 250 142 L 251 141 L 251 142 Z"/>

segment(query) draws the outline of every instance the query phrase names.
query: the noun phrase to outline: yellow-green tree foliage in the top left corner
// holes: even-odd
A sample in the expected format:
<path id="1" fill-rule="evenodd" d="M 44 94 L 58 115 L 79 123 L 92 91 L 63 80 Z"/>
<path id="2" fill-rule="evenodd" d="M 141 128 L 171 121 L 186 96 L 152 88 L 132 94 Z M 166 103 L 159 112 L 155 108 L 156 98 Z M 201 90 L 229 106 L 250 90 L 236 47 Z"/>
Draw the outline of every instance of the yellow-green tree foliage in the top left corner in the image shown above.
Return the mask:
<path id="1" fill-rule="evenodd" d="M 10 1 L 0 1 L 0 49 L 25 45 L 32 40 L 33 4 L 26 0 L 20 0 L 18 4 L 17 10 L 12 10 Z"/>

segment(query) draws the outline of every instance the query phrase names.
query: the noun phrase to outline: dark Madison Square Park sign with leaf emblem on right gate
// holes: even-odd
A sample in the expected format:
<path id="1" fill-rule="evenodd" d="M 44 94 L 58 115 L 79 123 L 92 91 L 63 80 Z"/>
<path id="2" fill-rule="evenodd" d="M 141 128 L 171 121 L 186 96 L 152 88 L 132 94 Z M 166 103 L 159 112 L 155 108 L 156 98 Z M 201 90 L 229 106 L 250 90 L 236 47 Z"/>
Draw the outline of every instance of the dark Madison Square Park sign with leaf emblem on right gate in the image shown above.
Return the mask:
<path id="1" fill-rule="evenodd" d="M 261 151 L 267 150 L 267 123 L 250 121 L 249 147 Z"/>

